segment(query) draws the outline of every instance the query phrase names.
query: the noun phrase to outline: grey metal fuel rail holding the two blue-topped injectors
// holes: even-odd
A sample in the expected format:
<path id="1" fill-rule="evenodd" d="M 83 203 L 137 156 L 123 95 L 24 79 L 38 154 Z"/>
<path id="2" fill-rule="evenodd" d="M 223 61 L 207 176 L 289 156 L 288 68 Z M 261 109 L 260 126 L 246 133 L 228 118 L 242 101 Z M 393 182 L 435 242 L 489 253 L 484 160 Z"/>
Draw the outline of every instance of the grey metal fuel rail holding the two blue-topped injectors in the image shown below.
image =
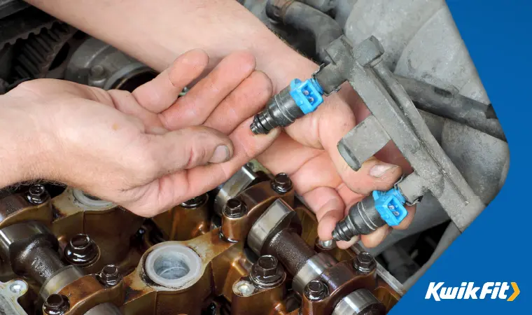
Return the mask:
<path id="1" fill-rule="evenodd" d="M 335 67 L 335 75 L 349 81 L 372 113 L 339 141 L 339 152 L 349 166 L 359 169 L 388 140 L 393 141 L 415 170 L 397 184 L 407 202 L 414 204 L 430 192 L 458 229 L 465 230 L 485 205 L 437 144 L 402 85 L 381 62 L 384 49 L 377 38 L 367 38 L 353 49 L 342 36 L 325 51 L 333 64 L 344 65 Z"/>

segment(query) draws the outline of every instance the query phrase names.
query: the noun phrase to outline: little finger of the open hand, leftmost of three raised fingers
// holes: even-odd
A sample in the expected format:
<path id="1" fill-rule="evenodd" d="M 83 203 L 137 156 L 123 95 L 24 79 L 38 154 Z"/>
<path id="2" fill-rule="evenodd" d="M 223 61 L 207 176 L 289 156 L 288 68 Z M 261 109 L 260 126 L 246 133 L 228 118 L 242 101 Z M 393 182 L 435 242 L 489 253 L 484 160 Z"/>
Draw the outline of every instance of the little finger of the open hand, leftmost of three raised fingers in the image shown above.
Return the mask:
<path id="1" fill-rule="evenodd" d="M 161 113 L 176 102 L 183 88 L 198 78 L 209 64 L 209 55 L 201 49 L 177 57 L 174 64 L 132 94 L 139 104 L 152 113 Z"/>

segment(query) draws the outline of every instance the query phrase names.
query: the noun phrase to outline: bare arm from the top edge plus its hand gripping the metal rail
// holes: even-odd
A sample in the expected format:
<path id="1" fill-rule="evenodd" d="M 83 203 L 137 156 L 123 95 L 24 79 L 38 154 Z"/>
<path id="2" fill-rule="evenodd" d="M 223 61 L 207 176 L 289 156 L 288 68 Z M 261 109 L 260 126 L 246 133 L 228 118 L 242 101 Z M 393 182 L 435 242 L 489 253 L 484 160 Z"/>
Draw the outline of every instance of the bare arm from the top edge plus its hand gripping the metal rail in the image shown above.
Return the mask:
<path id="1" fill-rule="evenodd" d="M 309 78 L 318 67 L 289 48 L 235 0 L 26 1 L 159 71 L 176 55 L 193 48 L 207 51 L 209 67 L 235 48 L 246 49 L 255 55 L 257 69 L 272 79 L 276 93 L 293 78 Z M 335 224 L 352 204 L 372 190 L 391 188 L 401 174 L 411 172 L 393 144 L 365 162 L 358 172 L 346 165 L 337 142 L 368 114 L 356 92 L 344 85 L 314 113 L 286 128 L 286 134 L 258 157 L 272 172 L 290 175 L 297 193 L 316 213 L 318 235 L 323 240 L 332 238 Z M 172 120 L 169 122 L 172 127 Z M 250 146 L 262 141 L 251 134 L 246 137 Z M 408 211 L 407 218 L 394 228 L 404 229 L 412 222 L 415 208 Z M 365 246 L 377 246 L 389 232 L 391 228 L 384 226 L 361 239 Z M 339 241 L 338 246 L 347 248 L 357 240 Z"/>

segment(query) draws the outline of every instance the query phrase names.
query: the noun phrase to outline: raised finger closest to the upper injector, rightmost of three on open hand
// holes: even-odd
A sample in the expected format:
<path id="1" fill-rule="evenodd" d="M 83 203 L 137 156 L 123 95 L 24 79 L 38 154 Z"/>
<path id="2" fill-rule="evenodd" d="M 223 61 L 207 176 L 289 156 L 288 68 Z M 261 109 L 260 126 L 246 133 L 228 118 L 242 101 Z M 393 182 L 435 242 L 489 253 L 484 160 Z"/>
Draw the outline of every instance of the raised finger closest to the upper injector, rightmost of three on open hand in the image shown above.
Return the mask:
<path id="1" fill-rule="evenodd" d="M 254 71 L 214 109 L 204 125 L 230 134 L 242 120 L 260 111 L 272 97 L 272 81 Z"/>

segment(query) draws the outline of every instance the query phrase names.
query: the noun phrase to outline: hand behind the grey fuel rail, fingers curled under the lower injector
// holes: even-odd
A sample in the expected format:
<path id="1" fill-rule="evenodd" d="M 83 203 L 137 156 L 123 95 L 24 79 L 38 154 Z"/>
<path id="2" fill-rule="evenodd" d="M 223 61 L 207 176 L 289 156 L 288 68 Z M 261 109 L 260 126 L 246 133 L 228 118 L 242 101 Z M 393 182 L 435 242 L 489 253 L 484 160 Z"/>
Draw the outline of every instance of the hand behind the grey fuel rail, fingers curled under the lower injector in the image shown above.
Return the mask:
<path id="1" fill-rule="evenodd" d="M 303 67 L 300 66 L 300 69 Z M 365 195 L 372 190 L 388 190 L 403 172 L 411 172 L 408 162 L 392 142 L 376 157 L 365 162 L 358 172 L 353 171 L 339 155 L 338 141 L 368 115 L 365 104 L 351 86 L 345 84 L 338 94 L 328 97 L 314 113 L 287 127 L 286 134 L 281 134 L 274 145 L 258 158 L 273 172 L 290 174 L 295 190 L 316 214 L 320 239 L 332 239 L 336 223 L 346 216 L 349 207 Z M 407 207 L 407 211 L 407 217 L 393 228 L 406 229 L 412 223 L 415 207 Z M 347 248 L 361 239 L 365 246 L 374 247 L 391 230 L 385 225 L 370 235 L 353 237 L 349 242 L 338 241 L 337 245 Z"/>

